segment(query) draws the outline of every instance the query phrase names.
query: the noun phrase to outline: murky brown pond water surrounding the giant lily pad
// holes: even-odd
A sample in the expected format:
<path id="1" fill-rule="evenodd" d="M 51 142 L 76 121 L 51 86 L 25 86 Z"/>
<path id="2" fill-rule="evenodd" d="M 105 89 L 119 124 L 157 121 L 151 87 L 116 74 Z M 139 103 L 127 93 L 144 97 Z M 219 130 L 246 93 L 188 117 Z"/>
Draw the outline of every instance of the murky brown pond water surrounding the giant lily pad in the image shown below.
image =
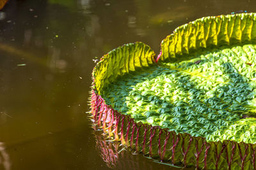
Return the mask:
<path id="1" fill-rule="evenodd" d="M 10 0 L 0 11 L 0 169 L 175 169 L 108 143 L 87 118 L 95 57 L 254 1 Z"/>

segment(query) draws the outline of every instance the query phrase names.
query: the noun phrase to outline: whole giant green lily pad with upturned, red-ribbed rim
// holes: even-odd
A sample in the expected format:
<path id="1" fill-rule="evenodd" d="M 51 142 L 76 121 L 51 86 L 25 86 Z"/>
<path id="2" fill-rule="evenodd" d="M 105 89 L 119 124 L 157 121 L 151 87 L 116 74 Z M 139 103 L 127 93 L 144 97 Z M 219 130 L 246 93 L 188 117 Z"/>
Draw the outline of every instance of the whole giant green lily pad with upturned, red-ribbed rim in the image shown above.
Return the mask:
<path id="1" fill-rule="evenodd" d="M 204 169 L 256 169 L 256 14 L 204 17 L 131 43 L 93 69 L 95 124 L 136 152 Z"/>

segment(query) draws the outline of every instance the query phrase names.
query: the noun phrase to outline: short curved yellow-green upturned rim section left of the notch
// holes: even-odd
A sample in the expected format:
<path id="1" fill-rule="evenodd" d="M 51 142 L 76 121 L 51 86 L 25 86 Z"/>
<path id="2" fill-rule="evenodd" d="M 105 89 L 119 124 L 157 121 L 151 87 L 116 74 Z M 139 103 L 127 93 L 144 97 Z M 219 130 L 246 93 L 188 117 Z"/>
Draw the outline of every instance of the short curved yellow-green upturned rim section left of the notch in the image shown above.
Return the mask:
<path id="1" fill-rule="evenodd" d="M 118 76 L 152 65 L 154 62 L 154 51 L 144 43 L 130 43 L 112 50 L 104 55 L 93 70 L 94 85 L 101 92 Z"/>

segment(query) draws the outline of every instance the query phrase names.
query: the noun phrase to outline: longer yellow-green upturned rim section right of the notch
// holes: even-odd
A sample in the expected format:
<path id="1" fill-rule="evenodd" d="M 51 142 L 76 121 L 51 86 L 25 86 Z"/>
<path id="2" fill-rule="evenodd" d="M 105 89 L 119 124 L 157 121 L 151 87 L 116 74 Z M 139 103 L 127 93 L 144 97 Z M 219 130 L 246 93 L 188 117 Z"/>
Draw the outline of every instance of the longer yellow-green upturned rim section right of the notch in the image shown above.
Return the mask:
<path id="1" fill-rule="evenodd" d="M 220 15 L 204 17 L 182 25 L 163 39 L 158 60 L 177 60 L 182 55 L 202 48 L 256 42 L 256 15 Z"/>

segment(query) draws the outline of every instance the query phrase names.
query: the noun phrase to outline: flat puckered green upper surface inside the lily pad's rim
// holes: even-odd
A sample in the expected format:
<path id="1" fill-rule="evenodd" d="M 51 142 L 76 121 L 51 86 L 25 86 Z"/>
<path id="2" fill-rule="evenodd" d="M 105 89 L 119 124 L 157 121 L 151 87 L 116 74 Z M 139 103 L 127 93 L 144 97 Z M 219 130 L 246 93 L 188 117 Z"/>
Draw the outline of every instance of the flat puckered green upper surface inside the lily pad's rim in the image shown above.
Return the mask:
<path id="1" fill-rule="evenodd" d="M 136 122 L 207 141 L 256 143 L 255 60 L 252 44 L 194 53 L 126 74 L 102 96 Z"/>

